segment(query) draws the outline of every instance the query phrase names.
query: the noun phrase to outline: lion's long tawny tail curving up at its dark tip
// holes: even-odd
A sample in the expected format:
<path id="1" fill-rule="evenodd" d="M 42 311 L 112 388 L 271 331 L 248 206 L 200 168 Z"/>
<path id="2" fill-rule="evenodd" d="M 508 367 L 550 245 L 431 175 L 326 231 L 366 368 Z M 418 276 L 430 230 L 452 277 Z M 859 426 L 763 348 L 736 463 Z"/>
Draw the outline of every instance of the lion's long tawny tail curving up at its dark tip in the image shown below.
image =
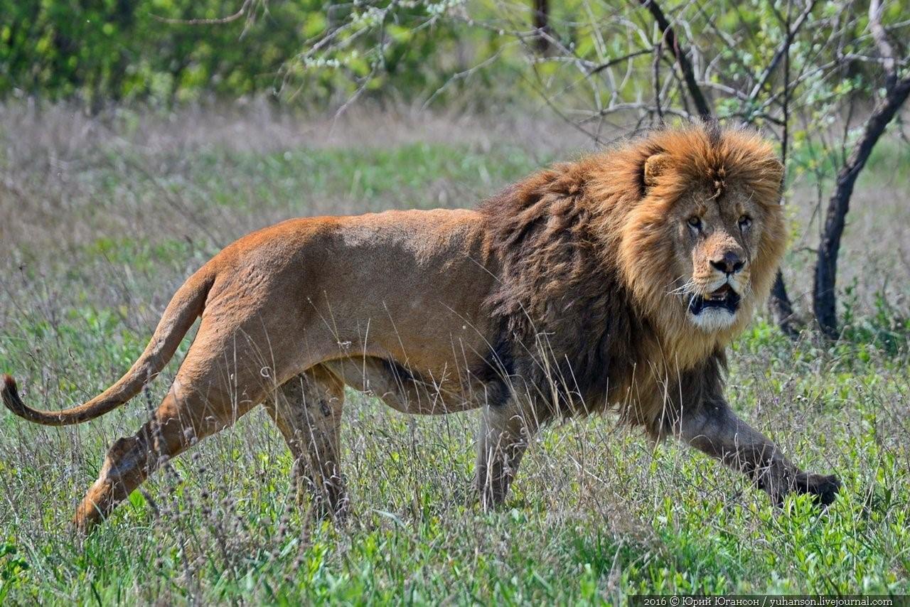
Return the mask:
<path id="1" fill-rule="evenodd" d="M 25 405 L 19 398 L 15 380 L 9 375 L 3 376 L 0 395 L 8 410 L 25 420 L 35 421 L 46 426 L 68 426 L 83 421 L 94 420 L 115 410 L 132 399 L 139 390 L 164 369 L 167 361 L 174 356 L 177 346 L 187 334 L 196 319 L 205 308 L 208 290 L 215 281 L 215 271 L 208 263 L 177 289 L 177 293 L 167 304 L 164 315 L 158 321 L 157 329 L 148 342 L 146 351 L 133 363 L 133 367 L 122 378 L 88 402 L 62 411 L 35 410 Z"/>

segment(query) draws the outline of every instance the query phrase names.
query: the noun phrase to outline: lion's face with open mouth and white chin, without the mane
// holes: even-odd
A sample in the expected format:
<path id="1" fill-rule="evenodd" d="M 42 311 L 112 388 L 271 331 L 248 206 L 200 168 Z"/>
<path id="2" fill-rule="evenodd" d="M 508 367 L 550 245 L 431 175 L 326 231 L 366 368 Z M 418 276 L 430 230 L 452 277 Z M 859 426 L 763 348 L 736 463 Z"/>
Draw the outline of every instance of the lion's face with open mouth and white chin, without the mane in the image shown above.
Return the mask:
<path id="1" fill-rule="evenodd" d="M 669 220 L 672 292 L 686 317 L 705 331 L 732 326 L 753 297 L 753 255 L 767 228 L 763 208 L 744 191 L 693 192 L 677 201 Z"/>

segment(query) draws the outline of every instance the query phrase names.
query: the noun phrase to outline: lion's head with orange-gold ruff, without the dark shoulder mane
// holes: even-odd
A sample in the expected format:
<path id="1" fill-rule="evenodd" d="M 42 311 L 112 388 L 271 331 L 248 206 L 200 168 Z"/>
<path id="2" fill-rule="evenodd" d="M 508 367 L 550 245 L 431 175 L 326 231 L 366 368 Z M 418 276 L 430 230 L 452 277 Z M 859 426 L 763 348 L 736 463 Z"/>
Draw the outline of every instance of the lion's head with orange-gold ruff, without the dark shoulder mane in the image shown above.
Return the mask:
<path id="1" fill-rule="evenodd" d="M 783 255 L 784 168 L 761 137 L 712 126 L 664 131 L 623 156 L 641 176 L 619 230 L 625 278 L 669 332 L 723 344 Z"/>

